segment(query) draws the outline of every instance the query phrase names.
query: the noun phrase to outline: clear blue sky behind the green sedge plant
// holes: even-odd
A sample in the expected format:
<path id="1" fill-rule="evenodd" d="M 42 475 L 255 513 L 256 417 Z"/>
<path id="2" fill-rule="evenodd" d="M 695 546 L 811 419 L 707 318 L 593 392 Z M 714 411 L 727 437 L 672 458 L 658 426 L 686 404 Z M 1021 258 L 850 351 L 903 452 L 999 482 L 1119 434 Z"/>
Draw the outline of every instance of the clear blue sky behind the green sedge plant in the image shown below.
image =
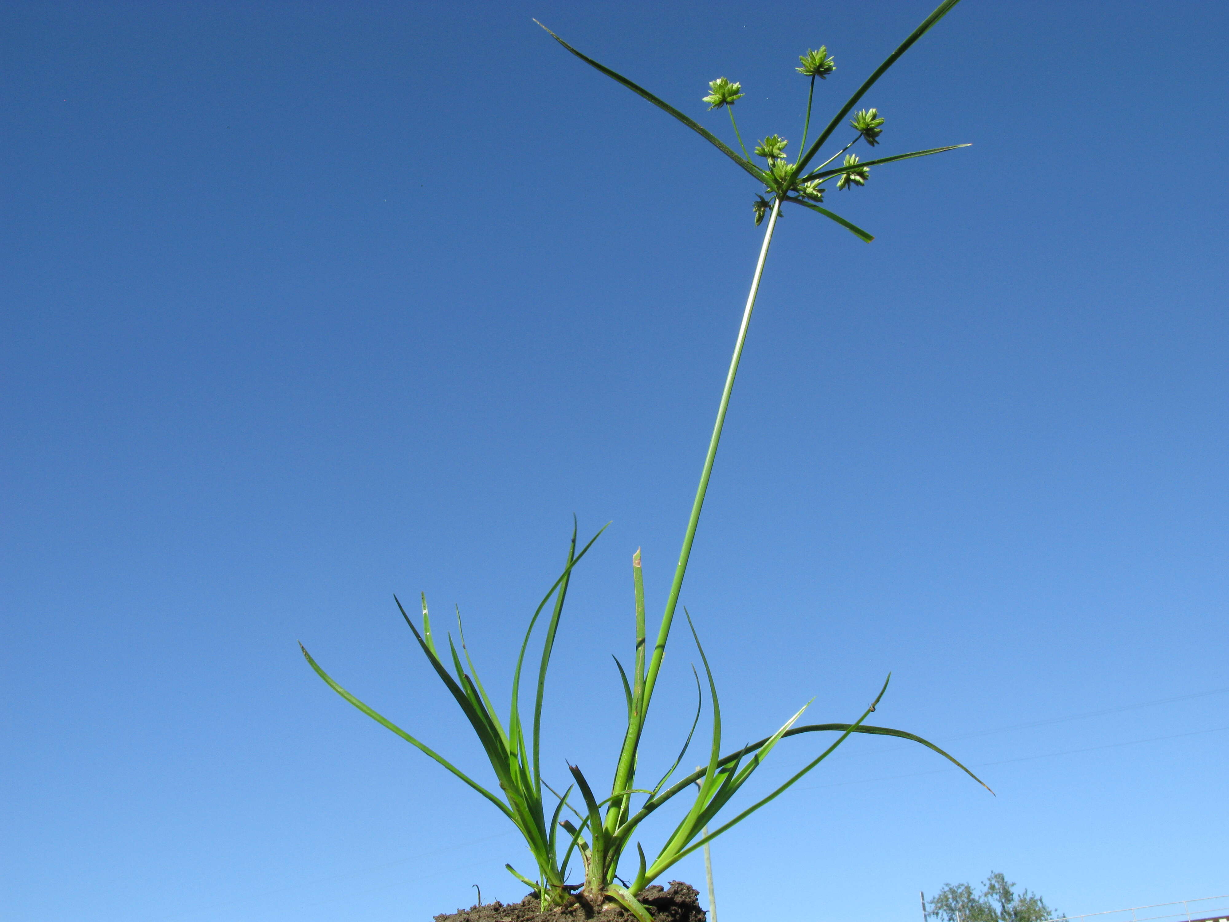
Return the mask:
<path id="1" fill-rule="evenodd" d="M 573 513 L 613 520 L 547 712 L 608 783 L 630 554 L 660 612 L 760 242 L 747 176 L 531 16 L 796 139 L 796 55 L 830 113 L 930 2 L 5 4 L 0 915 L 519 897 L 510 826 L 296 640 L 487 777 L 392 594 L 503 687 Z M 723 922 L 918 922 L 992 869 L 1070 913 L 1229 891 L 1227 31 L 966 0 L 865 102 L 878 150 L 975 146 L 830 188 L 869 246 L 783 219 L 685 590 L 728 739 L 891 670 L 876 718 L 998 797 L 854 740 L 714 846 Z"/>

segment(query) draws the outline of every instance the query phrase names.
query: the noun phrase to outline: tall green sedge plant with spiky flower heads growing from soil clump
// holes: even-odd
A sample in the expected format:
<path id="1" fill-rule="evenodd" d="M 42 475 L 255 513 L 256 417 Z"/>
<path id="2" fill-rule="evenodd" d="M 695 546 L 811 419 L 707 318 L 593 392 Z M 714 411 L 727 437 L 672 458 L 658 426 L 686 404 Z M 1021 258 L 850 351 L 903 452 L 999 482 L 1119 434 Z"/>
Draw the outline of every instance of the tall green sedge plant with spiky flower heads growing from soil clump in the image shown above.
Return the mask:
<path id="1" fill-rule="evenodd" d="M 887 681 L 880 688 L 879 695 L 869 707 L 852 723 L 820 723 L 803 724 L 798 720 L 807 706 L 804 706 L 793 714 L 775 733 L 764 736 L 758 743 L 741 746 L 732 751 L 723 751 L 721 744 L 721 708 L 717 693 L 717 685 L 713 672 L 709 669 L 708 658 L 701 645 L 696 627 L 691 616 L 685 617 L 691 628 L 691 634 L 699 653 L 699 660 L 704 670 L 704 685 L 707 685 L 709 709 L 712 712 L 712 731 L 708 746 L 708 762 L 696 771 L 675 777 L 678 766 L 682 763 L 696 728 L 699 723 L 703 706 L 703 687 L 699 674 L 693 670 L 697 687 L 697 711 L 692 720 L 691 731 L 680 750 L 678 757 L 664 772 L 650 776 L 650 781 L 644 781 L 640 766 L 640 743 L 645 730 L 649 706 L 656 688 L 661 672 L 662 656 L 666 652 L 666 643 L 670 639 L 675 613 L 678 607 L 680 595 L 683 586 L 683 577 L 687 572 L 687 562 L 691 557 L 692 543 L 696 538 L 696 529 L 699 524 L 701 510 L 704 505 L 704 495 L 708 491 L 709 477 L 713 472 L 713 462 L 717 457 L 718 444 L 721 439 L 721 428 L 725 422 L 726 409 L 730 403 L 730 395 L 734 390 L 734 381 L 739 370 L 739 361 L 747 337 L 747 328 L 751 322 L 751 313 L 756 304 L 756 295 L 760 290 L 760 280 L 763 275 L 764 262 L 768 257 L 768 247 L 773 238 L 773 232 L 780 218 L 783 205 L 799 205 L 815 211 L 839 224 L 846 230 L 853 232 L 863 241 L 870 242 L 874 237 L 850 221 L 822 207 L 825 200 L 823 183 L 836 181 L 838 191 L 862 187 L 866 183 L 870 167 L 893 164 L 911 157 L 921 157 L 943 151 L 954 150 L 967 145 L 949 145 L 945 148 L 933 148 L 918 150 L 908 154 L 895 154 L 891 156 L 874 157 L 860 161 L 850 149 L 864 141 L 868 146 L 878 146 L 882 134 L 884 118 L 874 108 L 860 109 L 853 113 L 854 107 L 863 96 L 875 85 L 875 82 L 907 52 L 922 36 L 924 36 L 939 20 L 941 20 L 959 0 L 945 0 L 934 10 L 909 36 L 906 38 L 887 60 L 885 60 L 849 97 L 844 106 L 832 117 L 827 125 L 806 144 L 810 133 L 811 107 L 815 97 L 816 80 L 827 80 L 836 70 L 836 63 L 828 54 L 826 47 L 819 50 L 807 50 L 801 55 L 796 70 L 809 77 L 809 91 L 806 100 L 806 120 L 803 125 L 801 151 L 796 160 L 790 161 L 785 154 L 788 140 L 779 135 L 769 135 L 760 140 L 750 154 L 742 143 L 737 122 L 734 117 L 734 106 L 742 98 L 742 87 L 737 82 L 731 82 L 725 77 L 719 77 L 709 84 L 709 93 L 704 102 L 710 109 L 725 108 L 729 112 L 735 139 L 741 149 L 741 155 L 721 141 L 714 133 L 703 128 L 694 119 L 681 111 L 658 98 L 648 90 L 638 86 L 627 77 L 617 74 L 610 68 L 600 64 L 592 58 L 581 54 L 562 38 L 551 32 L 552 37 L 568 52 L 580 60 L 596 68 L 602 74 L 612 77 L 638 96 L 648 100 L 654 106 L 664 109 L 682 122 L 689 129 L 699 134 L 713 144 L 725 156 L 750 173 L 763 191 L 756 195 L 753 202 L 753 215 L 756 225 L 763 224 L 767 219 L 763 242 L 760 247 L 760 256 L 752 275 L 751 290 L 747 295 L 746 306 L 742 312 L 742 321 L 735 339 L 734 355 L 730 360 L 725 385 L 718 403 L 717 422 L 709 440 L 708 452 L 701 471 L 699 486 L 692 504 L 691 516 L 683 534 L 682 551 L 675 568 L 673 579 L 666 596 L 665 611 L 656 627 L 656 636 L 653 645 L 649 645 L 649 634 L 645 618 L 644 579 L 640 565 L 640 552 L 637 551 L 632 558 L 632 583 L 634 594 L 635 615 L 635 647 L 632 654 L 630 669 L 624 669 L 616 658 L 619 679 L 623 687 L 623 696 L 627 704 L 626 725 L 622 729 L 622 746 L 618 760 L 614 765 L 610 792 L 600 795 L 595 790 L 590 777 L 580 766 L 569 765 L 570 783 L 562 792 L 556 786 L 552 787 L 543 777 L 541 757 L 542 736 L 542 706 L 546 692 L 547 671 L 551 664 L 551 655 L 554 648 L 559 621 L 564 610 L 564 601 L 568 595 L 568 585 L 571 572 L 592 547 L 594 541 L 601 535 L 597 532 L 587 543 L 578 550 L 576 529 L 573 527 L 571 542 L 569 545 L 567 562 L 559 578 L 551 586 L 549 591 L 538 604 L 537 610 L 530 618 L 525 638 L 516 658 L 512 672 L 512 686 L 510 702 L 508 706 L 506 720 L 500 719 L 499 712 L 488 695 L 478 676 L 478 670 L 469 656 L 465 642 L 465 629 L 461 623 L 460 611 L 457 612 L 457 639 L 447 636 L 446 649 L 436 642 L 431 627 L 431 618 L 426 607 L 425 596 L 420 605 L 420 626 L 415 623 L 409 613 L 397 600 L 397 607 L 414 640 L 426 656 L 426 661 L 435 670 L 440 681 L 452 695 L 460 706 L 490 762 L 495 784 L 483 784 L 462 771 L 445 756 L 420 741 L 412 734 L 396 725 L 392 720 L 377 713 L 375 709 L 356 698 L 349 691 L 338 685 L 307 653 L 302 650 L 311 668 L 324 680 L 326 684 L 345 701 L 356 707 L 370 718 L 382 724 L 410 745 L 418 747 L 428 756 L 439 762 L 444 768 L 452 772 L 457 778 L 473 788 L 478 794 L 489 800 L 497 810 L 508 818 L 521 832 L 525 843 L 532 856 L 535 868 L 525 868 L 527 873 L 517 870 L 508 864 L 508 870 L 520 881 L 528 886 L 541 900 L 542 908 L 580 906 L 585 915 L 600 910 L 603 904 L 614 902 L 623 906 L 640 922 L 650 922 L 650 915 L 638 899 L 643 889 L 659 879 L 669 868 L 686 858 L 708 842 L 720 836 L 732 826 L 741 822 L 761 806 L 773 800 L 785 789 L 793 786 L 799 778 L 805 776 L 837 746 L 846 741 L 852 734 L 871 734 L 884 736 L 897 736 L 912 740 L 927 746 L 944 756 L 971 777 L 980 782 L 972 772 L 944 752 L 934 744 L 916 736 L 905 730 L 896 730 L 886 727 L 875 727 L 865 723 L 871 712 L 875 711 L 880 698 L 887 690 Z M 541 23 L 538 23 L 541 25 Z M 546 28 L 543 26 L 543 28 Z M 547 30 L 549 32 L 549 30 Z M 852 118 L 849 118 L 853 113 Z M 848 120 L 847 120 L 848 119 Z M 853 138 L 841 139 L 846 141 L 843 146 L 833 152 L 827 160 L 817 166 L 811 164 L 820 155 L 820 151 L 833 139 L 842 127 L 852 129 Z M 838 166 L 830 166 L 834 160 L 842 157 Z M 763 162 L 757 162 L 757 160 Z M 548 612 L 548 613 L 547 613 Z M 546 617 L 543 618 L 543 615 Z M 544 627 L 540 629 L 540 623 Z M 525 666 L 526 656 L 530 652 L 531 640 L 538 631 L 541 636 L 541 649 L 537 656 L 537 676 L 532 687 L 533 706 L 532 717 L 526 723 L 521 718 L 521 671 Z M 889 680 L 891 676 L 889 676 Z M 784 783 L 778 784 L 767 794 L 760 797 L 753 803 L 744 805 L 736 813 L 730 806 L 734 798 L 747 783 L 756 770 L 772 754 L 772 751 L 788 738 L 807 736 L 811 734 L 834 734 L 828 745 L 822 747 L 806 765 L 791 774 Z M 685 803 L 689 798 L 689 804 Z M 667 804 L 682 804 L 677 820 L 665 840 L 658 843 L 655 849 L 645 851 L 644 845 L 638 840 L 642 824 L 653 816 L 658 810 Z M 732 813 L 732 815 L 730 815 Z M 634 851 L 632 846 L 634 845 Z M 624 857 L 629 862 L 624 862 Z M 579 875 L 573 870 L 579 865 Z M 621 877 L 622 872 L 622 877 Z"/>

